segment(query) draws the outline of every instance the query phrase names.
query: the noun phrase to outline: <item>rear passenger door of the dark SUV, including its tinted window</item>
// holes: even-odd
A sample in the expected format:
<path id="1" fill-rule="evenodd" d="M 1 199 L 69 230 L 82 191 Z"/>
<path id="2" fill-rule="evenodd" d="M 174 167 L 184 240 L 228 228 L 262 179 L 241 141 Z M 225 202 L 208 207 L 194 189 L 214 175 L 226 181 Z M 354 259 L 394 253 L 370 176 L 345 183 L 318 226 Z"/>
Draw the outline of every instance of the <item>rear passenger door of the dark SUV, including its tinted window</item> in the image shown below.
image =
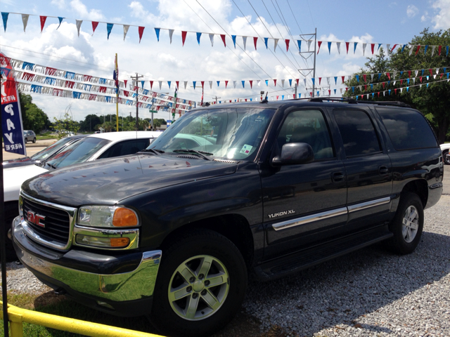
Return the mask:
<path id="1" fill-rule="evenodd" d="M 347 176 L 347 231 L 363 230 L 389 218 L 392 164 L 370 110 L 335 109 Z"/>

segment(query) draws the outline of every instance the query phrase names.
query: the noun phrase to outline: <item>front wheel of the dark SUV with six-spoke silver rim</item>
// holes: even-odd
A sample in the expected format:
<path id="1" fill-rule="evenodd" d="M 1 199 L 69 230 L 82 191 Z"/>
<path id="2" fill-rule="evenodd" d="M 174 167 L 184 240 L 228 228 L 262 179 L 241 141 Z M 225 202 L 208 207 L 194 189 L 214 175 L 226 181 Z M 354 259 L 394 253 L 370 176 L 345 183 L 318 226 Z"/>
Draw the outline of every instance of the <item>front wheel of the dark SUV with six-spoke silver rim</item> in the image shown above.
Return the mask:
<path id="1" fill-rule="evenodd" d="M 226 237 L 193 230 L 162 251 L 153 293 L 152 324 L 169 336 L 209 336 L 236 315 L 247 267 Z"/>

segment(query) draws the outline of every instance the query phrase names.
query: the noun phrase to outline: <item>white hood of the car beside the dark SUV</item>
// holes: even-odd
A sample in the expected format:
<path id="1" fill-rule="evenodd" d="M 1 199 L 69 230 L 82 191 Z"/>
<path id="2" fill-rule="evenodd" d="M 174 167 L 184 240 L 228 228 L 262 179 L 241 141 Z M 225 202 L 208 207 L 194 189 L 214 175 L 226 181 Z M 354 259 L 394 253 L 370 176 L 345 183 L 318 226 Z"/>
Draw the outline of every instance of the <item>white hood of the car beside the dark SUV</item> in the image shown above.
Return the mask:
<path id="1" fill-rule="evenodd" d="M 13 167 L 3 170 L 3 185 L 5 201 L 19 199 L 20 185 L 38 174 L 47 172 L 37 165 Z"/>

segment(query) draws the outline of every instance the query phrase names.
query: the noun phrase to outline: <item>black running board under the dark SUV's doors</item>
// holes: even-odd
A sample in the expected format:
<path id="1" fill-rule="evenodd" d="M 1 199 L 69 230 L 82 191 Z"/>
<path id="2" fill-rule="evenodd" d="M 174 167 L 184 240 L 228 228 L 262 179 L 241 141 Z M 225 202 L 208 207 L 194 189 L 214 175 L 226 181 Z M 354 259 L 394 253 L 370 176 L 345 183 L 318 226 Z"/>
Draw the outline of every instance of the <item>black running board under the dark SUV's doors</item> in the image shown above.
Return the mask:
<path id="1" fill-rule="evenodd" d="M 260 281 L 277 279 L 278 277 L 290 275 L 327 260 L 338 258 L 352 251 L 375 244 L 376 242 L 389 239 L 392 235 L 392 232 L 388 232 L 387 230 L 380 232 L 379 227 L 377 228 L 377 232 L 366 230 L 333 240 L 332 242 L 325 242 L 309 249 L 297 251 L 288 256 L 281 256 L 280 258 L 266 261 L 257 265 L 255 272 Z"/>

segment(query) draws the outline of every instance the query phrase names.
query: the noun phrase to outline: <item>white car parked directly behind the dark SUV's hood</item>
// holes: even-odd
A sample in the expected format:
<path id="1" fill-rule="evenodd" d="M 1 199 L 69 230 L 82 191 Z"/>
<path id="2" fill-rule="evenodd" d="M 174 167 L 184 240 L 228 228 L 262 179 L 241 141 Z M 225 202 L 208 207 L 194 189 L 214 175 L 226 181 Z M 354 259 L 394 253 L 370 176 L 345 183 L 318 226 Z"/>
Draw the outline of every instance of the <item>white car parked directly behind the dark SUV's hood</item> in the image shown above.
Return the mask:
<path id="1" fill-rule="evenodd" d="M 96 159 L 134 154 L 146 149 L 155 138 L 162 135 L 158 131 L 124 131 L 97 133 L 68 145 L 53 157 L 40 164 L 4 169 L 4 200 L 6 228 L 18 216 L 18 200 L 22 183 L 40 173 L 72 164 Z M 7 240 L 8 241 L 8 240 Z"/>

